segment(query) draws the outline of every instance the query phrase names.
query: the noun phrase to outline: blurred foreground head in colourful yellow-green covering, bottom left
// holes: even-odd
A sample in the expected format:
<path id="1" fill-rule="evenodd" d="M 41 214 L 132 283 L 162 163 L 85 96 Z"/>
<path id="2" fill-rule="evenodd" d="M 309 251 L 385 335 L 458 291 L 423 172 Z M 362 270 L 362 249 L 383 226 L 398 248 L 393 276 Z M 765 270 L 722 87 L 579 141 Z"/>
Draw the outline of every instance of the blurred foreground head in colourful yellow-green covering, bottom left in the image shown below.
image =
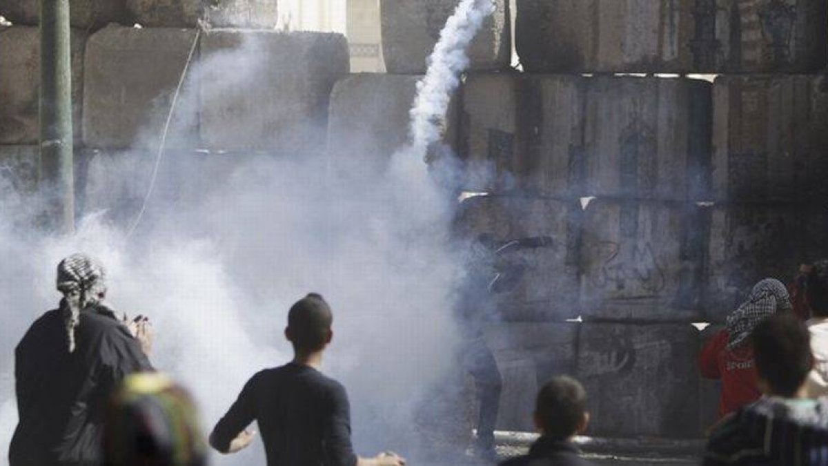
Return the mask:
<path id="1" fill-rule="evenodd" d="M 205 466 L 198 411 L 181 386 L 159 373 L 128 376 L 103 423 L 104 466 Z"/>

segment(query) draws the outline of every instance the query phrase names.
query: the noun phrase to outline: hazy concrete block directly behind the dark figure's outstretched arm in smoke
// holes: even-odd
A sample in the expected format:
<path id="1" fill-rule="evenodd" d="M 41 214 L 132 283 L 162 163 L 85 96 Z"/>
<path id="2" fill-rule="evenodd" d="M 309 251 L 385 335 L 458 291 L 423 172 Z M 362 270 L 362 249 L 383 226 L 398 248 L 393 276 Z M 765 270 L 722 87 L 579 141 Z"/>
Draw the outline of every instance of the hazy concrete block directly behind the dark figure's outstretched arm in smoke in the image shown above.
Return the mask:
<path id="1" fill-rule="evenodd" d="M 457 234 L 469 244 L 469 275 L 494 284 L 489 299 L 507 319 L 575 318 L 580 208 L 521 197 L 472 197 Z"/>

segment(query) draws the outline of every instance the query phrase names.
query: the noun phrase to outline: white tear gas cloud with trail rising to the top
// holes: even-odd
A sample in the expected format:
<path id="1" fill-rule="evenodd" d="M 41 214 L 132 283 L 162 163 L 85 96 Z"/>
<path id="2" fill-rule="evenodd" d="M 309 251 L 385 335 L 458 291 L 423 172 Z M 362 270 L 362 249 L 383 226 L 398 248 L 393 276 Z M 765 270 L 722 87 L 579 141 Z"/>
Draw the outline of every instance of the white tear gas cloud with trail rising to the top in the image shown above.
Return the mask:
<path id="1" fill-rule="evenodd" d="M 153 363 L 194 392 L 206 429 L 249 376 L 289 359 L 282 329 L 290 304 L 309 291 L 325 295 L 335 313 L 325 371 L 348 387 L 358 451 L 413 454 L 402 439 L 451 365 L 451 309 L 463 275 L 449 237 L 454 201 L 428 176 L 423 157 L 440 137 L 449 96 L 468 65 L 465 48 L 489 5 L 464 0 L 446 24 L 412 109 L 412 141 L 383 177 L 330 177 L 329 158 L 300 148 L 289 157 L 179 152 L 162 162 L 147 216 L 129 239 L 128 219 L 141 206 L 152 150 L 91 159 L 86 213 L 70 236 L 32 226 L 36 197 L 2 191 L 0 463 L 17 422 L 13 347 L 55 307 L 55 265 L 76 251 L 107 267 L 109 305 L 152 318 Z M 233 70 L 238 86 L 271 72 L 251 50 L 256 44 L 200 63 L 190 80 Z M 186 89 L 173 133 L 186 133 L 196 102 L 210 98 Z M 152 148 L 156 137 L 135 147 Z M 365 185 L 372 186 L 369 199 L 349 197 Z M 248 450 L 214 456 L 213 463 L 263 464 L 260 444 Z"/>

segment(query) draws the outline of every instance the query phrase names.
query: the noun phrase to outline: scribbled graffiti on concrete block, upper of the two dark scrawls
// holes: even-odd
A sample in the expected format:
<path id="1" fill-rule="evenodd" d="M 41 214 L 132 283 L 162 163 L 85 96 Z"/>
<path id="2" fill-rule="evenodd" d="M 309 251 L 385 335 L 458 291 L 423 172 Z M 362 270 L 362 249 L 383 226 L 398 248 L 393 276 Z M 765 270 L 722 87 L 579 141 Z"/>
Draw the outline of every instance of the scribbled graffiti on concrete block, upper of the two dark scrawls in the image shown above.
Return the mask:
<path id="1" fill-rule="evenodd" d="M 599 289 L 639 289 L 650 295 L 662 292 L 667 279 L 652 245 L 634 245 L 628 257 L 622 254 L 623 249 L 613 241 L 599 243 L 600 269 L 592 274 L 592 284 Z"/>

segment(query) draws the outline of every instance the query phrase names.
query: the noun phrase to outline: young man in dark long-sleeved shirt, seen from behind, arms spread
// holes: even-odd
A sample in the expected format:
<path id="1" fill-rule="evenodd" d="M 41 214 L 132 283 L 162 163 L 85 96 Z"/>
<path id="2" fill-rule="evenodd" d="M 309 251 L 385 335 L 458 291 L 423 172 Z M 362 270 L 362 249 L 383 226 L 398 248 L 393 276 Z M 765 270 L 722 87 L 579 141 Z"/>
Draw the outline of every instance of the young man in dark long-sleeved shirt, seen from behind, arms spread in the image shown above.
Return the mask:
<path id="1" fill-rule="evenodd" d="M 254 375 L 229 411 L 215 425 L 209 443 L 222 453 L 247 447 L 253 420 L 262 430 L 268 466 L 402 466 L 396 454 L 359 458 L 351 446 L 350 406 L 344 386 L 319 368 L 331 341 L 333 316 L 319 294 L 308 294 L 292 307 L 285 337 L 293 345 L 292 362 Z"/>

